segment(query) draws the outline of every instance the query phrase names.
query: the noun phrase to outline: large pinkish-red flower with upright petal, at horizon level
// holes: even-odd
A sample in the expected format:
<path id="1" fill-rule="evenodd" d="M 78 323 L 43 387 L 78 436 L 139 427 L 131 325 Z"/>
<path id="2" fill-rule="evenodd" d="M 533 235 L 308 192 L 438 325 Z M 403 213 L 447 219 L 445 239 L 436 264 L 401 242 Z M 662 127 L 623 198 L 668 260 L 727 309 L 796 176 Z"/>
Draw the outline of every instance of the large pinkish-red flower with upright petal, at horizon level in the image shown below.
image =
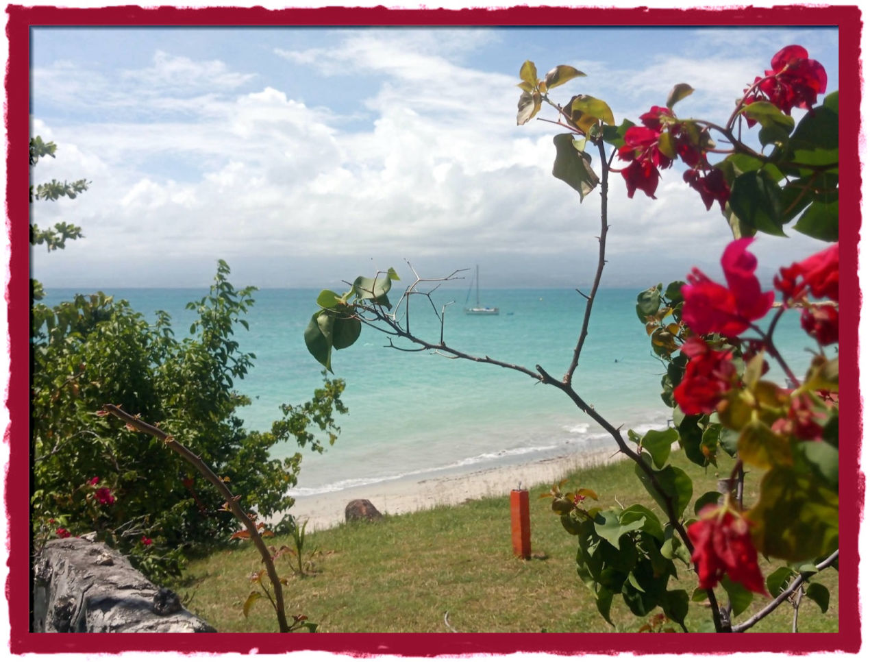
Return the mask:
<path id="1" fill-rule="evenodd" d="M 693 269 L 682 287 L 683 321 L 699 335 L 721 333 L 737 336 L 754 320 L 763 318 L 773 305 L 773 291 L 762 292 L 755 277 L 758 260 L 746 251 L 752 238 L 735 239 L 722 253 L 727 286 L 714 283 Z"/>

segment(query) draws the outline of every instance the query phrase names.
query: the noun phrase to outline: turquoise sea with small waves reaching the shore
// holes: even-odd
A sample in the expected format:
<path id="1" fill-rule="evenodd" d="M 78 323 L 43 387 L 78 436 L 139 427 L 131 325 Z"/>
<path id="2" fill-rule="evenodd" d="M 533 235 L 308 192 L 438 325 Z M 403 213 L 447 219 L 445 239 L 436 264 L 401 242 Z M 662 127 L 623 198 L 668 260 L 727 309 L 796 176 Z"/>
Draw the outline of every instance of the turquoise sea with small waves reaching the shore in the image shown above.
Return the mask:
<path id="1" fill-rule="evenodd" d="M 46 304 L 75 293 L 46 289 Z M 194 318 L 184 304 L 202 298 L 207 288 L 104 291 L 127 299 L 150 321 L 157 310 L 169 312 L 180 338 Z M 671 418 L 659 398 L 664 368 L 650 351 L 634 312 L 638 291 L 599 291 L 574 384 L 614 425 L 663 429 Z M 257 357 L 249 375 L 236 384 L 251 398 L 251 406 L 240 412 L 249 429 L 268 429 L 278 418 L 278 405 L 304 402 L 321 383 L 322 368 L 303 340 L 317 295 L 315 290 L 295 289 L 255 293 L 257 303 L 247 316 L 250 331 L 240 326 L 236 332 L 242 350 Z M 398 299 L 398 294 L 391 292 L 391 298 Z M 499 316 L 466 315 L 465 298 L 465 290 L 455 289 L 435 292 L 434 307 L 423 297 L 412 299 L 412 331 L 437 342 L 440 329 L 434 312 L 455 301 L 445 307 L 446 344 L 531 370 L 540 364 L 555 377 L 564 374 L 583 317 L 584 299 L 576 291 L 481 291 L 482 303 L 498 306 Z M 796 312 L 780 322 L 776 338 L 786 360 L 802 371 L 809 343 Z M 305 453 L 298 486 L 291 493 L 302 496 L 391 478 L 427 478 L 616 450 L 612 438 L 565 395 L 522 373 L 431 352 L 397 351 L 386 344 L 385 335 L 364 328 L 357 344 L 333 351 L 332 367 L 347 383 L 343 399 L 350 411 L 339 418 L 341 434 L 334 446 L 323 455 Z M 296 450 L 277 448 L 275 454 Z"/>

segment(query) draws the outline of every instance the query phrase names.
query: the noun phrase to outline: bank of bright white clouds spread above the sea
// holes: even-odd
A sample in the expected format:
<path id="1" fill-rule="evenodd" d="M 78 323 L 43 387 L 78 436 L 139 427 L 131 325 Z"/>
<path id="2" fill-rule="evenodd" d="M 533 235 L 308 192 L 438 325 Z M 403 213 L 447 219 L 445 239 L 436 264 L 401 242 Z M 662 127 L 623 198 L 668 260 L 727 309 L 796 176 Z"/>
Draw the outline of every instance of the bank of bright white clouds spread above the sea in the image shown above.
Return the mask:
<path id="1" fill-rule="evenodd" d="M 206 264 L 206 280 L 214 259 L 235 257 L 251 271 L 261 265 L 258 284 L 315 260 L 317 281 L 339 259 L 361 255 L 440 256 L 449 268 L 473 255 L 539 256 L 559 273 L 591 273 L 582 262 L 597 251 L 598 193 L 578 206 L 576 192 L 551 176 L 552 124 L 515 125 L 516 78 L 462 64 L 477 43 L 497 38 L 492 30 L 341 34 L 328 47 L 278 54 L 312 86 L 347 73 L 371 81 L 346 107 L 311 107 L 274 85 L 251 91 L 255 74 L 165 51 L 144 69 L 125 70 L 117 92 L 110 77 L 79 64 L 37 68 L 37 96 L 75 99 L 77 109 L 50 123 L 35 119 L 35 132 L 58 144 L 57 162 L 39 164 L 37 180 L 63 172 L 93 182 L 75 204 L 35 205 L 37 223 L 75 218 L 86 235 L 63 257 L 37 257 L 37 278 L 58 282 L 75 265 L 82 283 L 117 269 L 136 284 L 167 270 L 193 278 Z M 693 78 L 705 103 L 733 103 L 747 63 L 713 57 L 661 58 L 631 77 L 609 72 L 637 92 L 611 86 L 614 110 L 642 98 L 646 108 L 650 97 L 660 103 L 679 82 L 675 70 Z M 362 103 L 371 123 L 349 122 Z M 89 104 L 136 106 L 135 117 L 148 121 L 118 121 L 117 113 L 91 121 L 79 112 Z M 621 177 L 611 181 L 614 284 L 637 271 L 641 256 L 685 261 L 707 239 L 726 241 L 724 221 L 677 171 L 665 172 L 658 200 L 628 200 Z M 104 259 L 134 236 L 136 258 L 125 271 Z M 272 266 L 284 263 L 280 272 Z"/>

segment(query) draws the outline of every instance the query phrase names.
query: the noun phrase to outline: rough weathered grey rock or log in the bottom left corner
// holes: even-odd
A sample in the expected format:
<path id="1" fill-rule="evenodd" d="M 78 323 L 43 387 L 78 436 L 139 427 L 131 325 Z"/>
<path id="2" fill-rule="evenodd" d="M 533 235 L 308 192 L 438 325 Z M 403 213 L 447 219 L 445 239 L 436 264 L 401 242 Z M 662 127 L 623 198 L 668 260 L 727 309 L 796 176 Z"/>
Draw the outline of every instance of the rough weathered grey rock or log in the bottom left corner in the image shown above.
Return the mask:
<path id="1" fill-rule="evenodd" d="M 82 538 L 50 540 L 34 567 L 33 632 L 217 632 L 123 555 Z"/>

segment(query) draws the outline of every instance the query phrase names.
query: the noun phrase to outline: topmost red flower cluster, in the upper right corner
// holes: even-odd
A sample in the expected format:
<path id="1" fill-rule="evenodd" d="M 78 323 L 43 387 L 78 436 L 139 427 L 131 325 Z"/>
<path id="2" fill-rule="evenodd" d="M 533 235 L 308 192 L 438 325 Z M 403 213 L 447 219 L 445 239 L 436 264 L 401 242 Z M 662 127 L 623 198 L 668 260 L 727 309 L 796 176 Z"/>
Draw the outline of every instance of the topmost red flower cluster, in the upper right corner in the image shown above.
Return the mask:
<path id="1" fill-rule="evenodd" d="M 770 66 L 765 77 L 755 79 L 753 87 L 758 87 L 758 93 L 747 97 L 747 103 L 766 98 L 786 115 L 791 115 L 793 108 L 812 108 L 827 89 L 825 68 L 811 60 L 803 46 L 786 46 L 773 56 Z"/>

